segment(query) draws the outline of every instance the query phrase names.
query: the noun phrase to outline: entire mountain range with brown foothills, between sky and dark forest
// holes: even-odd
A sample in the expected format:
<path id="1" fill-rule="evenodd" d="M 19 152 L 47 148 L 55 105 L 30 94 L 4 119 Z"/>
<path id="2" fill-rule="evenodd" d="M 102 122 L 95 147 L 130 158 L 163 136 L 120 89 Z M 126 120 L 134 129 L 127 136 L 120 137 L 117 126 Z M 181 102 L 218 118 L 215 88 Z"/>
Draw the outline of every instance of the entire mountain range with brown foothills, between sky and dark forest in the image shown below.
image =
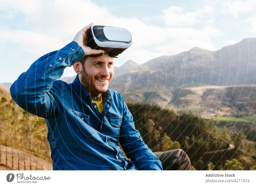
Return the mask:
<path id="1" fill-rule="evenodd" d="M 215 115 L 239 115 L 255 84 L 255 49 L 256 38 L 248 38 L 216 51 L 194 47 L 141 65 L 129 60 L 115 67 L 109 87 L 120 92 L 125 100 L 157 104 L 177 112 L 195 112 L 209 88 L 207 96 L 212 98 L 204 101 L 205 107 L 200 107 L 202 116 L 212 115 L 221 92 L 226 90 L 223 105 Z M 256 91 L 250 95 L 256 98 Z M 253 102 L 251 99 L 243 114 L 256 112 Z"/>

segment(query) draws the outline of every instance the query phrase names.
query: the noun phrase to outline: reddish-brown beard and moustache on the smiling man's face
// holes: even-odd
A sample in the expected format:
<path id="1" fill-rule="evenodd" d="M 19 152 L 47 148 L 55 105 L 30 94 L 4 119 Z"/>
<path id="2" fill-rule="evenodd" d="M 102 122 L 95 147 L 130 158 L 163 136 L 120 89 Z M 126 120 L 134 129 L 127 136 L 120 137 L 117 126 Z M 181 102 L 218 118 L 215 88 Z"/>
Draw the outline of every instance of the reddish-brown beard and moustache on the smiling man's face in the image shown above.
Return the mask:
<path id="1" fill-rule="evenodd" d="M 104 77 L 104 76 L 100 76 L 97 78 L 108 78 L 108 77 Z M 108 85 L 110 83 L 110 81 L 112 80 L 112 77 L 110 77 L 108 79 Z M 105 93 L 107 92 L 101 92 L 99 89 L 96 88 L 96 79 L 94 77 L 92 77 L 91 74 L 87 73 L 86 70 L 84 69 L 81 73 L 81 84 L 84 86 L 84 88 L 86 89 L 87 93 L 89 93 L 90 95 L 99 95 L 100 93 Z"/>

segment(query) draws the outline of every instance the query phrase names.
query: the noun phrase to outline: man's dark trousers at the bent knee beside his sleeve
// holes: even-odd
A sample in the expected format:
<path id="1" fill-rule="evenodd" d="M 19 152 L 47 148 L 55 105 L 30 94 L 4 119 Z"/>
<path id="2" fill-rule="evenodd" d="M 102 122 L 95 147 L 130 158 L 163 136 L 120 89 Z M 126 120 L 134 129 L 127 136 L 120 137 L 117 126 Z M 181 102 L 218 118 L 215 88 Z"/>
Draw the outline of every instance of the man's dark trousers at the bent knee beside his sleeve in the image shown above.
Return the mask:
<path id="1" fill-rule="evenodd" d="M 182 149 L 154 152 L 161 161 L 163 170 L 191 170 L 188 155 Z"/>

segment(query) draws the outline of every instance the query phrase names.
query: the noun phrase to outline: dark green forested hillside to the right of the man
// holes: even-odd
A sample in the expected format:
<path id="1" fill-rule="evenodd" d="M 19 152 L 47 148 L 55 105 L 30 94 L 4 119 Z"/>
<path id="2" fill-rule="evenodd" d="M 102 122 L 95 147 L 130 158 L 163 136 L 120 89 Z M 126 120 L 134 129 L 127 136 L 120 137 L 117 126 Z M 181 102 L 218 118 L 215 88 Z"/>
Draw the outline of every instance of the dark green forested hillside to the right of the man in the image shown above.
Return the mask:
<path id="1" fill-rule="evenodd" d="M 243 132 L 230 132 L 193 114 L 177 115 L 148 104 L 127 105 L 136 129 L 154 152 L 181 148 L 196 170 L 256 169 L 256 143 L 246 140 Z"/>

